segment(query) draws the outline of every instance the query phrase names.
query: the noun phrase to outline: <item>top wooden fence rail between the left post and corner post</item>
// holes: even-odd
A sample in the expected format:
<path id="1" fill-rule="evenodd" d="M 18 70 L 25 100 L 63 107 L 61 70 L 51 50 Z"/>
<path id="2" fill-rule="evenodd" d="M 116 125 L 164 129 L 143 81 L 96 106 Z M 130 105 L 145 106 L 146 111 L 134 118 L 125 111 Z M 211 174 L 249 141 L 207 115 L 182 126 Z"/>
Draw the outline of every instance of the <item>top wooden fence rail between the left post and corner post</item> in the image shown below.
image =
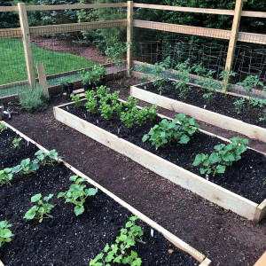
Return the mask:
<path id="1" fill-rule="evenodd" d="M 43 11 L 43 10 L 79 10 L 90 8 L 108 8 L 108 7 L 126 7 L 126 3 L 117 4 L 55 4 L 55 5 L 27 5 L 27 11 Z"/>

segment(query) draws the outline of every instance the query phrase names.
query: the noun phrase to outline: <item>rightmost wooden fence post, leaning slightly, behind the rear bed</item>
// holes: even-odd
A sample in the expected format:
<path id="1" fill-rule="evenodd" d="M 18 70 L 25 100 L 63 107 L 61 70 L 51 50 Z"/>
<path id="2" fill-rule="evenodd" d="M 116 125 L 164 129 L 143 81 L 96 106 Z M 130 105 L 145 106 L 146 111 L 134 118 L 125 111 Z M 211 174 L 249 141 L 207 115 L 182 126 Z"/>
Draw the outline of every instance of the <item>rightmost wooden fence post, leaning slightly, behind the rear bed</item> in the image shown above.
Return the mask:
<path id="1" fill-rule="evenodd" d="M 228 51 L 227 51 L 227 58 L 225 63 L 225 70 L 228 72 L 231 72 L 233 61 L 234 61 L 234 55 L 236 50 L 236 45 L 238 43 L 238 35 L 239 35 L 239 24 L 241 19 L 241 13 L 243 8 L 243 0 L 236 0 L 236 6 L 235 6 L 235 14 L 233 23 L 231 26 L 231 37 L 228 45 Z M 226 78 L 223 81 L 224 88 L 223 90 L 226 90 L 226 85 L 230 82 L 229 78 Z"/>

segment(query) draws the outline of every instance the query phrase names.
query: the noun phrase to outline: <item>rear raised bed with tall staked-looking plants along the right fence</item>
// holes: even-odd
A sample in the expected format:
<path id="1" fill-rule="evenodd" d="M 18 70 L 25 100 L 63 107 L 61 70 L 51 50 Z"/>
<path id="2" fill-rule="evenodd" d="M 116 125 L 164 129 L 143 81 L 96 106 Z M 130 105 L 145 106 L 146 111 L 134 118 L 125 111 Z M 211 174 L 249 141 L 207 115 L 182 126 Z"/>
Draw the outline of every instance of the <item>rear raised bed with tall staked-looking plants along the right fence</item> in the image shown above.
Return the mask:
<path id="1" fill-rule="evenodd" d="M 239 132 L 247 137 L 266 142 L 266 99 L 255 98 L 252 91 L 260 87 L 265 91 L 257 76 L 249 75 L 240 82 L 248 97 L 239 97 L 229 92 L 231 85 L 224 85 L 224 79 L 233 73 L 223 71 L 221 81 L 212 78 L 212 71 L 207 72 L 199 65 L 188 66 L 189 61 L 169 69 L 168 60 L 148 66 L 136 66 L 143 73 L 142 78 L 148 77 L 153 82 L 145 82 L 132 86 L 131 95 L 146 102 L 157 104 L 176 113 L 185 113 L 200 121 L 205 121 L 223 129 Z M 176 74 L 177 80 L 168 78 Z M 200 75 L 200 80 L 191 82 L 191 73 Z"/>

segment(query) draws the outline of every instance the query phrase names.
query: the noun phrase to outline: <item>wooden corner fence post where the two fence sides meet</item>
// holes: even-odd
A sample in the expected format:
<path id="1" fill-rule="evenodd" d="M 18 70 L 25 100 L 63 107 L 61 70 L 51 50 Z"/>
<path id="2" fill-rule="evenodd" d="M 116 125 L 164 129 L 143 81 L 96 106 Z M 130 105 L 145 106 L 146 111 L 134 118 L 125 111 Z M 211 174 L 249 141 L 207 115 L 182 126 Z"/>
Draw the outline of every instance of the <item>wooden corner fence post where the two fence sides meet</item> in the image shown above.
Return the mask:
<path id="1" fill-rule="evenodd" d="M 132 68 L 132 41 L 133 41 L 133 1 L 128 1 L 128 27 L 127 42 L 130 42 L 127 51 L 127 75 L 130 76 Z"/>

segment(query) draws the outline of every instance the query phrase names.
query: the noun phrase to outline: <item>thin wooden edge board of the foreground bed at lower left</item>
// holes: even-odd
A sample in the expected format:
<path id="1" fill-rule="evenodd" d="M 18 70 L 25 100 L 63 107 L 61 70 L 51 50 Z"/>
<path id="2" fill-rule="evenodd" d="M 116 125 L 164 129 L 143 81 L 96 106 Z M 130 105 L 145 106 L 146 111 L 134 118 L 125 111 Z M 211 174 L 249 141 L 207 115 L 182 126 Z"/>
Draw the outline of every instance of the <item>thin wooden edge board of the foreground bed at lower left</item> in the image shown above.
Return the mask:
<path id="1" fill-rule="evenodd" d="M 26 139 L 27 142 L 31 142 L 32 144 L 36 145 L 40 150 L 43 150 L 45 153 L 49 153 L 49 151 L 46 150 L 45 148 L 43 148 L 42 145 L 39 145 L 34 140 L 32 140 L 31 138 L 29 138 L 26 135 L 24 135 L 23 133 L 21 133 L 19 130 L 14 129 L 8 123 L 6 123 L 4 121 L 0 121 L 0 123 L 4 123 L 9 129 L 12 129 L 14 132 L 16 132 L 18 135 L 20 135 L 20 137 L 23 137 L 24 139 Z M 192 246 L 186 244 L 183 240 L 178 239 L 174 234 L 172 234 L 168 230 L 164 229 L 158 223 L 155 223 L 152 219 L 150 219 L 146 215 L 144 215 L 141 212 L 139 212 L 135 207 L 130 206 L 127 202 L 125 202 L 124 200 L 121 200 L 119 197 L 115 196 L 112 192 L 109 192 L 108 190 L 106 190 L 106 188 L 104 188 L 103 186 L 101 186 L 97 182 L 93 181 L 90 177 L 84 175 L 78 169 L 72 167 L 65 160 L 61 160 L 61 159 L 57 159 L 57 160 L 61 161 L 66 166 L 66 168 L 69 168 L 72 172 L 74 172 L 75 175 L 85 178 L 88 183 L 90 183 L 93 186 L 97 187 L 100 191 L 106 193 L 106 195 L 108 195 L 114 201 L 119 203 L 122 207 L 127 208 L 129 210 L 129 212 L 131 212 L 133 215 L 136 215 L 140 220 L 142 220 L 145 223 L 149 224 L 151 227 L 153 227 L 154 230 L 159 231 L 165 237 L 165 239 L 168 239 L 168 241 L 170 241 L 176 247 L 178 247 L 179 249 L 184 250 L 184 252 L 190 254 L 195 260 L 200 262 L 199 266 L 209 266 L 209 265 L 211 265 L 211 261 L 204 254 L 201 254 L 198 250 L 196 250 Z M 0 266 L 4 266 L 4 263 L 1 262 L 1 260 L 0 260 Z"/>

